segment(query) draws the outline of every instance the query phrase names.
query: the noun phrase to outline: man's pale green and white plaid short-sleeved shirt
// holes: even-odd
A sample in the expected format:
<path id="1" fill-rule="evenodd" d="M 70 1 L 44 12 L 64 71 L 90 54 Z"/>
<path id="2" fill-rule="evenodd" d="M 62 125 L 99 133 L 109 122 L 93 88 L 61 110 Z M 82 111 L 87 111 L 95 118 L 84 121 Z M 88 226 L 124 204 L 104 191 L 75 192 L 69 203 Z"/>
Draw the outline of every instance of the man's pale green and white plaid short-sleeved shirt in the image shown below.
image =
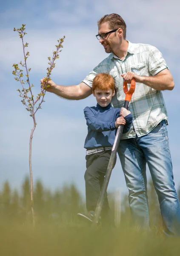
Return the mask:
<path id="1" fill-rule="evenodd" d="M 111 53 L 94 68 L 83 80 L 92 87 L 92 80 L 98 73 L 109 73 L 115 80 L 115 95 L 111 105 L 121 108 L 124 105 L 123 77 L 121 74 L 128 71 L 140 76 L 155 76 L 160 71 L 168 68 L 161 52 L 149 44 L 132 44 L 129 42 L 126 56 L 123 60 Z M 130 86 L 128 84 L 128 86 Z M 133 116 L 133 126 L 122 139 L 134 138 L 148 134 L 161 120 L 167 120 L 166 105 L 163 94 L 145 84 L 136 83 L 136 89 L 129 104 Z"/>

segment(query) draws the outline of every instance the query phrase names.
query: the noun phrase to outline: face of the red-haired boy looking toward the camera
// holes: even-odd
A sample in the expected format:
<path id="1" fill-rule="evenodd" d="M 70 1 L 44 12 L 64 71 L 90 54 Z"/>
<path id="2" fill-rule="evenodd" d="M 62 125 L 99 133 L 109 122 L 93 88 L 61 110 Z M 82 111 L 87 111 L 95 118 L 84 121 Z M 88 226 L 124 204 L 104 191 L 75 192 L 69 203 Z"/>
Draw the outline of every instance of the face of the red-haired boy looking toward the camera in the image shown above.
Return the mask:
<path id="1" fill-rule="evenodd" d="M 111 102 L 112 96 L 114 96 L 115 92 L 113 92 L 111 89 L 109 90 L 100 90 L 95 89 L 94 90 L 94 97 L 96 97 L 97 103 L 101 107 L 107 107 L 109 103 Z"/>

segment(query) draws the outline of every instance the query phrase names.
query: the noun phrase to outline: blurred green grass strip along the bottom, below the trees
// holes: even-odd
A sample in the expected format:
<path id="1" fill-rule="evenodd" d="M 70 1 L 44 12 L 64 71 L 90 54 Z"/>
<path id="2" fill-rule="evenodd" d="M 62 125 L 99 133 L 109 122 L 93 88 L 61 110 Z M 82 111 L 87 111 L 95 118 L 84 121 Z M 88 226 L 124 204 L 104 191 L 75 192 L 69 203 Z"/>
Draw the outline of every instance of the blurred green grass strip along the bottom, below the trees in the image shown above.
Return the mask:
<path id="1" fill-rule="evenodd" d="M 179 256 L 180 238 L 131 227 L 78 223 L 0 224 L 0 256 Z"/>

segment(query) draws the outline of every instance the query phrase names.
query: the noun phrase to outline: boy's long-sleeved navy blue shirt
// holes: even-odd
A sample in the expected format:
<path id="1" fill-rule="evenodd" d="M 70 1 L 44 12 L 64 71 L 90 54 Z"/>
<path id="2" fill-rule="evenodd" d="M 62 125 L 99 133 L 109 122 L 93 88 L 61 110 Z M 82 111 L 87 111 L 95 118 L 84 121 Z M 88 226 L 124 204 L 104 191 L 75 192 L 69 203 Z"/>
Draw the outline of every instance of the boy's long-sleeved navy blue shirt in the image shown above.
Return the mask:
<path id="1" fill-rule="evenodd" d="M 88 135 L 84 148 L 92 149 L 98 147 L 111 147 L 115 140 L 115 122 L 120 116 L 120 108 L 113 108 L 111 104 L 101 107 L 98 103 L 96 107 L 86 107 L 84 109 L 86 124 L 88 125 Z M 129 131 L 132 123 L 132 115 L 125 117 L 123 133 Z"/>

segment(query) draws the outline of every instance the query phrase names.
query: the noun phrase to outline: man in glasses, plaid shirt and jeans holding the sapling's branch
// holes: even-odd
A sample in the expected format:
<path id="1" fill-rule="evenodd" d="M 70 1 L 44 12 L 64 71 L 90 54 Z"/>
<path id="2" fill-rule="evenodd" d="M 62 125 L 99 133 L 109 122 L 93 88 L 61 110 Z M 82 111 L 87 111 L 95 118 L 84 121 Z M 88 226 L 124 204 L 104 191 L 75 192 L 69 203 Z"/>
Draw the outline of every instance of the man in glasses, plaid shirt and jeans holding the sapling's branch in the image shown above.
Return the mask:
<path id="1" fill-rule="evenodd" d="M 129 110 L 133 125 L 123 134 L 118 154 L 129 189 L 129 206 L 134 221 L 149 226 L 146 163 L 156 189 L 165 233 L 180 235 L 180 203 L 174 188 L 171 155 L 166 130 L 167 112 L 161 90 L 172 90 L 174 81 L 156 47 L 132 44 L 126 40 L 126 23 L 117 14 L 98 21 L 97 39 L 111 53 L 78 85 L 62 86 L 49 81 L 47 91 L 66 99 L 84 99 L 92 93 L 98 73 L 109 73 L 115 80 L 112 105 L 124 103 L 123 79 L 136 79 L 136 90 Z M 41 79 L 43 82 L 43 79 Z"/>

